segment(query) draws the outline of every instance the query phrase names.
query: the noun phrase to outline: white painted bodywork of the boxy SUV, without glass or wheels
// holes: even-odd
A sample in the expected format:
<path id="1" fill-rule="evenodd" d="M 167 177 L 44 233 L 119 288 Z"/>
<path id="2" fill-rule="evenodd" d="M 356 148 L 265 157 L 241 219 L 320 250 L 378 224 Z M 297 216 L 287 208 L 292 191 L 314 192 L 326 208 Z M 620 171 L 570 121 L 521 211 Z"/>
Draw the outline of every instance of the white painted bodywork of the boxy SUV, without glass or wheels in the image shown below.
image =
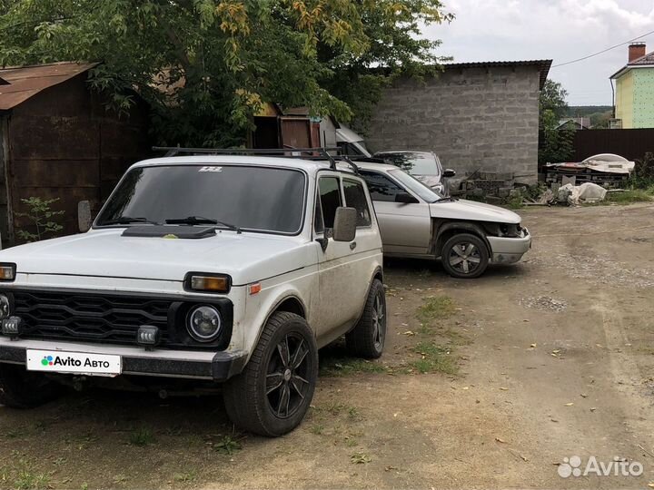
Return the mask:
<path id="1" fill-rule="evenodd" d="M 58 309 L 64 317 L 65 310 L 71 307 L 70 298 L 76 301 L 79 297 L 84 303 L 88 295 L 112 301 L 115 295 L 125 300 L 173 301 L 171 305 L 222 301 L 221 305 L 229 305 L 233 318 L 231 337 L 224 348 L 191 345 L 193 342 L 186 338 L 184 342 L 189 344 L 188 348 L 179 345 L 168 348 L 165 343 L 153 348 L 137 346 L 135 342 L 123 345 L 104 342 L 102 338 L 94 340 L 78 335 L 79 332 L 69 335 L 64 331 L 64 327 L 69 327 L 66 324 L 50 328 L 46 334 L 30 334 L 28 330 L 25 336 L 18 338 L 0 336 L 0 363 L 25 364 L 25 353 L 30 349 L 103 354 L 120 356 L 122 374 L 224 381 L 238 375 L 249 362 L 263 326 L 276 311 L 302 316 L 312 328 L 318 348 L 351 331 L 362 318 L 373 279 L 381 280 L 382 273 L 380 231 L 365 183 L 352 171 L 331 169 L 328 162 L 276 157 L 172 157 L 139 162 L 130 171 L 155 167 L 163 171 L 197 167 L 198 171 L 203 171 L 203 166 L 215 169 L 254 166 L 257 171 L 266 168 L 302 172 L 301 230 L 274 233 L 244 229 L 241 232 L 218 225 L 213 236 L 175 240 L 175 236 L 169 234 L 124 236 L 130 229 L 128 225 L 99 226 L 98 218 L 94 228 L 86 233 L 2 250 L 0 262 L 15 264 L 15 280 L 0 283 L 0 293 L 11 295 L 14 303 L 16 295 L 20 294 L 61 295 L 65 308 L 57 305 L 36 305 L 34 308 Z M 207 172 L 205 175 L 203 178 L 209 179 L 219 178 L 221 174 Z M 193 179 L 200 178 L 199 174 L 193 176 Z M 359 182 L 364 192 L 370 209 L 370 224 L 357 227 L 351 242 L 335 241 L 314 227 L 316 212 L 322 209 L 316 207 L 317 182 L 322 178 L 341 182 L 342 206 L 347 205 L 343 202 L 347 195 L 343 191 L 346 181 Z M 117 189 L 120 186 L 119 183 Z M 148 225 L 144 224 L 143 229 L 147 231 Z M 175 230 L 188 230 L 188 227 L 170 226 L 170 229 L 170 233 L 175 233 Z M 224 294 L 189 290 L 186 277 L 190 273 L 227 275 L 231 288 Z M 253 286 L 260 290 L 253 292 Z M 32 318 L 29 309 L 13 306 L 15 315 Z M 83 320 L 92 321 L 92 313 L 84 313 Z M 79 316 L 76 309 L 75 315 Z M 179 332 L 183 325 L 173 327 L 177 331 L 175 335 L 182 335 Z M 107 328 L 112 326 L 108 324 Z"/>

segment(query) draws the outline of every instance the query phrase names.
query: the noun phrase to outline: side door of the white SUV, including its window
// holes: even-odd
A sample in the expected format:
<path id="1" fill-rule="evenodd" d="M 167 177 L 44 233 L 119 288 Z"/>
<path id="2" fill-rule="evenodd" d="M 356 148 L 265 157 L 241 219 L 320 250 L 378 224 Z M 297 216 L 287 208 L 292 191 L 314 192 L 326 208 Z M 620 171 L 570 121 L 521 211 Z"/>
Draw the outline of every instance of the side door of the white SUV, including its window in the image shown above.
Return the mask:
<path id="1" fill-rule="evenodd" d="M 332 230 L 336 209 L 344 206 L 341 175 L 321 171 L 317 181 L 314 238 L 322 241 L 318 250 L 318 318 L 313 326 L 319 347 L 340 337 L 352 328 L 361 313 L 362 299 L 352 294 L 361 279 L 353 266 L 359 244 L 335 241 Z M 353 240 L 359 239 L 360 233 Z M 363 247 L 363 245 L 362 245 Z M 361 250 L 361 249 L 360 249 Z"/>

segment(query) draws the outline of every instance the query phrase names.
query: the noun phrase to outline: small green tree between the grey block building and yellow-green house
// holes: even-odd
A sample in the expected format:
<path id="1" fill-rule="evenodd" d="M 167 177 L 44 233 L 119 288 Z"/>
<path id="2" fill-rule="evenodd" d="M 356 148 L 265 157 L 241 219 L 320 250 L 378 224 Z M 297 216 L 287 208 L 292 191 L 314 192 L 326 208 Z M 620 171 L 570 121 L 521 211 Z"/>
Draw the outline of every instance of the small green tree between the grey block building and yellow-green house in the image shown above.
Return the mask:
<path id="1" fill-rule="evenodd" d="M 568 111 L 568 92 L 558 82 L 548 79 L 539 101 L 539 166 L 568 162 L 573 153 L 574 129 L 560 128 L 559 120 Z"/>

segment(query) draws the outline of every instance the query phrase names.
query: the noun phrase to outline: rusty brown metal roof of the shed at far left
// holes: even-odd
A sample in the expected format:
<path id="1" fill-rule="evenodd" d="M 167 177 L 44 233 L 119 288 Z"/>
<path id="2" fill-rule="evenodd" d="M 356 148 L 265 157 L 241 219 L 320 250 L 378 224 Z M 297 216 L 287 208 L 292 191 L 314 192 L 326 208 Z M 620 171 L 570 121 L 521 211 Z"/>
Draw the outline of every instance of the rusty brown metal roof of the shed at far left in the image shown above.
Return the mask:
<path id="1" fill-rule="evenodd" d="M 84 73 L 97 63 L 54 63 L 34 66 L 13 66 L 0 69 L 0 111 L 13 109 L 30 97 L 57 83 Z"/>

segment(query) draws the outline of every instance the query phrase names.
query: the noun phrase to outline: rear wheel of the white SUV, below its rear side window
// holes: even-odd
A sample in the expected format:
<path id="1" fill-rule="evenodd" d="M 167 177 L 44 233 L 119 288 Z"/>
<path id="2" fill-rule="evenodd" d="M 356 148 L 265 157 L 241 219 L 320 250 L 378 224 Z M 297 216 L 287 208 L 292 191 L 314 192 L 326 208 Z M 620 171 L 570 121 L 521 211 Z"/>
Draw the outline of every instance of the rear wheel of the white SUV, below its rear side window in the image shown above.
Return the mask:
<path id="1" fill-rule="evenodd" d="M 345 336 L 345 347 L 352 356 L 381 357 L 386 339 L 386 294 L 380 279 L 373 279 L 362 318 Z"/>

